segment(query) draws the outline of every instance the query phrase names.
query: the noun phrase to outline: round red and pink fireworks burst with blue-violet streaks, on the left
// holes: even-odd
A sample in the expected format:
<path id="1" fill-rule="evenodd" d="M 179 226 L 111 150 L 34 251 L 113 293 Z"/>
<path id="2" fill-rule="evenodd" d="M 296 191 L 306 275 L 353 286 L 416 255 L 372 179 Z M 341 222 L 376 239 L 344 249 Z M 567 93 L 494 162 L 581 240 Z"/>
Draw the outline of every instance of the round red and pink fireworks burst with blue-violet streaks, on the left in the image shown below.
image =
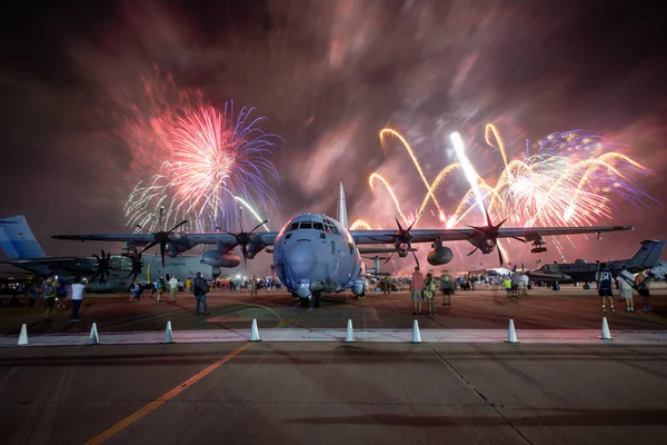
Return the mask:
<path id="1" fill-rule="evenodd" d="M 188 230 L 232 230 L 239 199 L 247 206 L 258 202 L 266 215 L 277 211 L 276 195 L 265 178 L 280 180 L 270 161 L 279 138 L 258 127 L 263 118 L 251 118 L 253 108 L 242 108 L 235 117 L 233 102 L 219 111 L 201 100 L 191 105 L 191 97 L 181 95 L 171 108 L 159 100 L 159 107 L 149 107 L 157 116 L 147 118 L 142 110 L 126 126 L 141 154 L 169 159 L 129 195 L 129 226 L 156 231 L 189 219 Z"/>

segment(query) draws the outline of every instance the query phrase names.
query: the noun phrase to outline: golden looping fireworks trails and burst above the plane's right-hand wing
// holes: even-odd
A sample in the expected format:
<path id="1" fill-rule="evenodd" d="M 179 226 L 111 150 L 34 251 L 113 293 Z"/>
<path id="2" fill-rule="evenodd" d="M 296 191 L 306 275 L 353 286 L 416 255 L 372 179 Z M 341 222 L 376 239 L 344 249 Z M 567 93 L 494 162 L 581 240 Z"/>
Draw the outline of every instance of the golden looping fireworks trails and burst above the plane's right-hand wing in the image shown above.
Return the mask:
<path id="1" fill-rule="evenodd" d="M 446 228 L 460 225 L 471 212 L 475 214 L 475 208 L 482 208 L 482 202 L 487 202 L 496 220 L 508 218 L 511 226 L 519 227 L 594 225 L 613 216 L 614 198 L 636 207 L 648 206 L 647 201 L 657 202 L 636 179 L 638 175 L 653 175 L 651 170 L 619 152 L 621 146 L 583 130 L 552 134 L 535 145 L 527 141 L 522 156 L 508 159 L 500 132 L 494 125 L 488 125 L 486 142 L 500 152 L 505 166 L 495 186 L 475 170 L 458 134 L 452 134 L 451 141 L 460 162 L 445 167 L 430 184 L 412 147 L 400 134 L 384 129 L 380 132 L 382 147 L 386 149 L 387 135 L 400 140 L 427 188 L 417 219 L 432 201 L 437 210 L 434 215 Z M 465 174 L 470 189 L 454 210 L 446 211 L 437 201 L 435 191 L 450 174 L 459 170 Z M 397 212 L 408 224 L 410 218 L 401 211 L 396 190 L 378 172 L 369 178 L 371 190 L 375 191 L 378 180 L 385 185 Z M 370 227 L 370 224 L 357 220 L 351 227 Z M 560 244 L 556 246 L 565 259 Z"/>

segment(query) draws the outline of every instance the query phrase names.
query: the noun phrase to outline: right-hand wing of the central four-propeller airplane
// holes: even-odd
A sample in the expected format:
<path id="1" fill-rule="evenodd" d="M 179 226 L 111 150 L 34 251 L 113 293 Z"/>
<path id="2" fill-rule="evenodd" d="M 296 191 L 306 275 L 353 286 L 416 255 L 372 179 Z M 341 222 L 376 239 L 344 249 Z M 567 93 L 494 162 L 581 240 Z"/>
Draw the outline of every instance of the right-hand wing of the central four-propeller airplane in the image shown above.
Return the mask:
<path id="1" fill-rule="evenodd" d="M 497 238 L 524 238 L 527 241 L 539 240 L 550 235 L 601 234 L 607 231 L 631 230 L 633 226 L 590 226 L 590 227 L 512 227 L 498 229 Z M 407 233 L 407 230 L 406 230 Z M 397 239 L 396 230 L 350 230 L 357 244 L 391 244 Z M 414 229 L 409 231 L 411 243 L 434 243 L 469 240 L 477 229 Z"/>

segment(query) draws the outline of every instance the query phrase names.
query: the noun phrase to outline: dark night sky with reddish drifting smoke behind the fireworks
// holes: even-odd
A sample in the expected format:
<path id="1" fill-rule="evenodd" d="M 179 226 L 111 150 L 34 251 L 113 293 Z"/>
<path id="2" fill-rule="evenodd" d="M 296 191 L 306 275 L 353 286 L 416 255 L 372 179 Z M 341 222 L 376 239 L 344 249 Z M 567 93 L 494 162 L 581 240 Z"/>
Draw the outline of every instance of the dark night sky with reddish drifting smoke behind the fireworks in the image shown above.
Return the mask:
<path id="1" fill-rule="evenodd" d="M 487 177 L 501 166 L 484 144 L 487 122 L 512 156 L 526 139 L 585 129 L 627 146 L 655 171 L 640 184 L 667 202 L 667 50 L 657 2 L 190 3 L 3 3 L 0 216 L 26 215 L 48 254 L 103 246 L 53 234 L 129 230 L 128 194 L 163 159 L 122 136 L 118 98 L 140 103 L 141 79 L 167 76 L 213 106 L 256 107 L 268 119 L 261 127 L 282 138 L 273 159 L 280 185 L 268 181 L 279 198 L 272 229 L 299 211 L 335 215 L 339 180 L 351 220 L 394 228 L 392 205 L 368 187 L 374 171 L 392 178 L 405 208 L 416 209 L 424 184 L 398 145 L 382 150 L 386 126 L 412 142 L 430 178 L 456 160 L 442 131 L 461 132 Z M 467 188 L 459 177 L 438 197 L 455 207 Z M 636 230 L 601 243 L 577 237 L 569 260 L 626 257 L 643 239 L 667 238 L 660 204 L 615 204 L 614 224 Z M 426 216 L 419 227 L 437 219 Z M 497 266 L 496 255 L 465 258 L 472 248 L 457 246 L 457 267 Z M 528 248 L 512 251 L 521 253 L 515 261 L 534 264 Z M 554 249 L 541 258 L 557 259 Z"/>

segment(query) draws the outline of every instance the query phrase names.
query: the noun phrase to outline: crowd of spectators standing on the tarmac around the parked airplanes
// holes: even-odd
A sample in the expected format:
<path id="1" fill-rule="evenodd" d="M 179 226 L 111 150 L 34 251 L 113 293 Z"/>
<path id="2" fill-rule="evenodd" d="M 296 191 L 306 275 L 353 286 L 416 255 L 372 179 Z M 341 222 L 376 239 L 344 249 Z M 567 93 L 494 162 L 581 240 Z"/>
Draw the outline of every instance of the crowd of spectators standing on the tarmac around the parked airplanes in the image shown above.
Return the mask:
<path id="1" fill-rule="evenodd" d="M 650 281 L 655 277 L 650 270 L 640 269 L 637 274 L 631 274 L 625 266 L 614 277 L 606 264 L 600 265 L 600 270 L 596 275 L 597 291 L 600 297 L 600 310 L 615 312 L 614 305 L 614 288 L 618 289 L 620 301 L 626 305 L 625 310 L 628 313 L 635 312 L 634 295 L 636 291 L 643 301 L 643 312 L 651 312 L 650 304 Z M 467 275 L 454 278 L 447 271 L 436 276 L 427 273 L 426 276 L 420 271 L 419 267 L 415 268 L 410 278 L 394 278 L 391 275 L 386 275 L 377 284 L 376 290 L 382 290 L 385 295 L 390 295 L 395 290 L 404 290 L 406 287 L 410 291 L 412 301 L 412 315 L 422 314 L 422 304 L 426 301 L 426 310 L 429 316 L 437 315 L 436 296 L 438 293 L 442 296 L 442 306 L 451 306 L 455 290 L 458 289 L 475 289 L 486 285 L 500 285 L 507 291 L 507 298 L 516 298 L 527 296 L 528 289 L 531 288 L 531 283 L 525 274 L 515 274 L 510 276 L 489 276 L 489 275 Z M 81 277 L 73 279 L 71 285 L 62 285 L 56 275 L 50 275 L 38 285 L 34 280 L 20 284 L 19 291 L 28 297 L 28 306 L 33 307 L 38 298 L 43 298 L 46 308 L 44 319 L 52 319 L 52 310 L 64 309 L 66 299 L 71 299 L 71 316 L 70 322 L 77 323 L 79 319 L 79 310 L 83 300 L 86 290 L 86 281 Z M 556 284 L 554 289 L 557 290 Z M 248 277 L 248 278 L 231 278 L 223 280 L 215 280 L 213 288 L 229 289 L 231 291 L 250 291 L 251 296 L 257 296 L 258 290 L 279 289 L 279 280 L 271 277 Z M 157 303 L 163 303 L 162 298 L 166 293 L 169 295 L 169 303 L 177 301 L 179 291 L 185 291 L 186 297 L 195 297 L 197 300 L 196 315 L 209 315 L 206 296 L 211 286 L 206 281 L 201 274 L 197 274 L 195 278 L 188 277 L 185 283 L 181 283 L 175 276 L 159 277 L 153 283 L 140 283 L 133 279 L 128 288 L 130 301 L 139 301 L 142 297 L 156 298 Z M 589 286 L 585 286 L 589 288 Z M 202 309 L 202 310 L 200 310 Z"/>

